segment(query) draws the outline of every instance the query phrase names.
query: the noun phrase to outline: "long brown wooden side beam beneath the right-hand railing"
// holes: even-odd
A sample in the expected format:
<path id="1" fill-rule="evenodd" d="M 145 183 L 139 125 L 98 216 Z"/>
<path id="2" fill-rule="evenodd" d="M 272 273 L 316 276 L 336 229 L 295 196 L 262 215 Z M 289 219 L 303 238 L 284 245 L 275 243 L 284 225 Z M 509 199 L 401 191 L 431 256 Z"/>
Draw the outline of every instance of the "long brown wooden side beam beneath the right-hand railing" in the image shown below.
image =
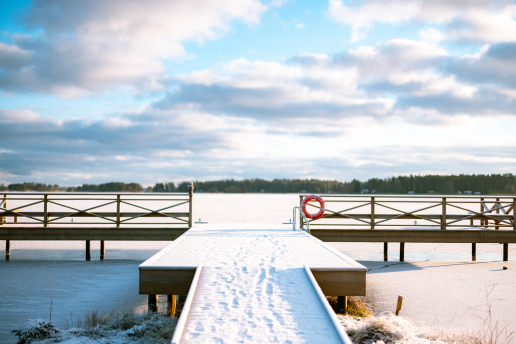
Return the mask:
<path id="1" fill-rule="evenodd" d="M 311 234 L 330 242 L 450 242 L 516 243 L 512 230 L 412 230 L 385 229 L 311 229 Z"/>

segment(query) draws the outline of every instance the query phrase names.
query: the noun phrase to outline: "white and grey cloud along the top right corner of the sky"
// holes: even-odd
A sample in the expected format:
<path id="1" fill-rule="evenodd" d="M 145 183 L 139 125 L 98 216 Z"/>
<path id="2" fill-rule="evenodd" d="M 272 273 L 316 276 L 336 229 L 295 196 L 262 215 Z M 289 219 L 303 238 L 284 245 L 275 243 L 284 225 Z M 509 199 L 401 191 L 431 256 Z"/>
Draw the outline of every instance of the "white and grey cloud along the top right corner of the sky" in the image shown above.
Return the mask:
<path id="1" fill-rule="evenodd" d="M 473 40 L 480 42 L 516 41 L 516 5 L 509 0 L 474 2 L 436 0 L 400 1 L 371 0 L 358 6 L 344 5 L 342 0 L 329 0 L 330 18 L 351 26 L 351 41 L 365 38 L 377 23 L 417 21 L 442 25 L 440 32 L 428 28 L 420 32 L 429 41 Z"/>

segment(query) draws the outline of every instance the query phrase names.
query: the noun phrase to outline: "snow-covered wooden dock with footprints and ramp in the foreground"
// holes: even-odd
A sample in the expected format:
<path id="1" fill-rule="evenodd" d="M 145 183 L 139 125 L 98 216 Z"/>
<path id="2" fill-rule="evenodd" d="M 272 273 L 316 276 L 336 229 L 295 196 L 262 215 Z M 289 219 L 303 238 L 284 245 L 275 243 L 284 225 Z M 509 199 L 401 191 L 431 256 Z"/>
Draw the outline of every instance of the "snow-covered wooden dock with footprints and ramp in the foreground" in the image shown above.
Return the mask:
<path id="1" fill-rule="evenodd" d="M 365 295 L 367 269 L 289 226 L 217 224 L 139 270 L 140 294 L 188 293 L 173 342 L 349 342 L 324 296 Z"/>

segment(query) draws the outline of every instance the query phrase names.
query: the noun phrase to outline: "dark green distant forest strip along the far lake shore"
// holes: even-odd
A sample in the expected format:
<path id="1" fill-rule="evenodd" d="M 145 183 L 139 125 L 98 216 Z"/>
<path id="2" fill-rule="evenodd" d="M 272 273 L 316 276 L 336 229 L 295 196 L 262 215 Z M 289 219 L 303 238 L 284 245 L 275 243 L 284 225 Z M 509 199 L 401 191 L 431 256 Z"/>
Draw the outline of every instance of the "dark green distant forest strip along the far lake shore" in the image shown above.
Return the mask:
<path id="1" fill-rule="evenodd" d="M 69 191 L 69 192 L 186 192 L 188 182 L 156 183 L 143 188 L 138 183 L 112 182 L 100 185 L 83 184 L 78 187 L 59 187 L 40 183 L 1 184 L 0 191 Z M 310 193 L 481 193 L 516 194 L 516 175 L 410 175 L 392 178 L 371 178 L 366 182 L 320 181 L 318 179 L 233 179 L 212 182 L 194 182 L 194 192 L 310 192 Z"/>

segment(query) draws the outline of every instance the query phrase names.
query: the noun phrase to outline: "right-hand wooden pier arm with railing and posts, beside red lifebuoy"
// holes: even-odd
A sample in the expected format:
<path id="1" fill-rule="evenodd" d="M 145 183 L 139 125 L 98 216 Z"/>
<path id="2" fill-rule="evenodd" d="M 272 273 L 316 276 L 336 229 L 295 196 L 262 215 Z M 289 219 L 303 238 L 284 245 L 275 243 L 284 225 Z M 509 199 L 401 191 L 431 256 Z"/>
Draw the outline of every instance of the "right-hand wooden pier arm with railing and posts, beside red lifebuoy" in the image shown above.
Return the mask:
<path id="1" fill-rule="evenodd" d="M 299 195 L 299 202 L 306 195 Z M 322 241 L 399 243 L 404 260 L 406 242 L 516 243 L 516 196 L 470 195 L 322 195 L 324 216 L 309 220 L 311 233 Z M 318 208 L 316 205 L 313 208 Z M 303 226 L 302 218 L 299 221 Z"/>

